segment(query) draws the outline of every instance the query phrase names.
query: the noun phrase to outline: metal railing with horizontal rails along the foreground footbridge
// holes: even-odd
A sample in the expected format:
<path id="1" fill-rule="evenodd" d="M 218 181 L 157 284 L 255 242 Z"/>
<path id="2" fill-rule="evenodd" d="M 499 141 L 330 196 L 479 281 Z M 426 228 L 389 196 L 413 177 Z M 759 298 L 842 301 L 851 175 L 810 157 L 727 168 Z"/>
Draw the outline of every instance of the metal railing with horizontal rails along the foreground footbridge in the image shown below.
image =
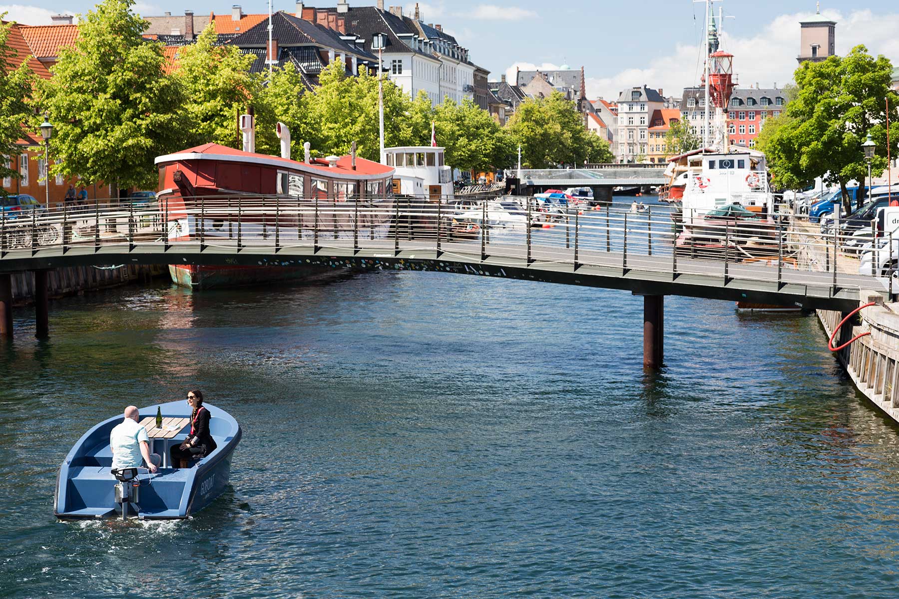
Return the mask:
<path id="1" fill-rule="evenodd" d="M 3 260 L 42 251 L 117 249 L 124 260 L 138 245 L 200 245 L 222 251 L 375 250 L 522 260 L 524 264 L 584 266 L 627 276 L 640 269 L 834 288 L 884 286 L 892 293 L 895 262 L 886 244 L 869 273 L 846 253 L 858 242 L 836 227 L 821 233 L 801 217 L 672 215 L 666 206 L 557 206 L 536 198 L 413 198 L 295 196 L 165 197 L 150 203 L 58 207 L 0 213 Z M 886 252 L 886 257 L 883 253 Z M 886 266 L 882 266 L 886 265 Z M 854 270 L 853 270 L 854 269 Z M 882 281 L 884 283 L 882 283 Z"/>

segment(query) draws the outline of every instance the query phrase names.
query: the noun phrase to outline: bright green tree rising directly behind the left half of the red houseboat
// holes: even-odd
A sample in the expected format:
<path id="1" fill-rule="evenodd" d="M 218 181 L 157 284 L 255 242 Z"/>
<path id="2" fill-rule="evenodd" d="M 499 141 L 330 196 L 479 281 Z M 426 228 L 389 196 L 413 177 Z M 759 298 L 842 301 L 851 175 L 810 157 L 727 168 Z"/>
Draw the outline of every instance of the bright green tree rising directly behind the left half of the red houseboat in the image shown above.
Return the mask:
<path id="1" fill-rule="evenodd" d="M 197 42 L 179 50 L 174 76 L 182 86 L 183 112 L 189 121 L 184 145 L 209 142 L 239 147 L 237 117 L 262 88 L 250 75 L 254 56 L 231 45 L 216 45 L 215 24 L 209 23 Z"/>

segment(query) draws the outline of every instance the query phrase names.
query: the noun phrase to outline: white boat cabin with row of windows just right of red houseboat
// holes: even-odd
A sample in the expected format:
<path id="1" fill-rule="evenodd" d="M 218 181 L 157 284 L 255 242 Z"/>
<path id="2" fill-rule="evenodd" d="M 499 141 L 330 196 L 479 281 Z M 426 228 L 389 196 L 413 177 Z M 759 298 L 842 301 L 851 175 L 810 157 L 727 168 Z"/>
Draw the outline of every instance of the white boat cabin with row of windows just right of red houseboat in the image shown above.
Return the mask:
<path id="1" fill-rule="evenodd" d="M 443 162 L 444 148 L 434 145 L 387 147 L 381 163 L 396 172 L 396 195 L 446 202 L 453 198 L 452 169 Z"/>

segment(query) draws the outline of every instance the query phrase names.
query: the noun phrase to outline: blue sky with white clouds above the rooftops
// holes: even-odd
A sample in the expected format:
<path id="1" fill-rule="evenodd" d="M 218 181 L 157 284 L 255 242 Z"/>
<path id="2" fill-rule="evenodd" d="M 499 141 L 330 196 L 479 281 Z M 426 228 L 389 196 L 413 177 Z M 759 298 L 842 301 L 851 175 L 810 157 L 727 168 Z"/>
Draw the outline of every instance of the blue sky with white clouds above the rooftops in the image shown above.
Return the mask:
<path id="1" fill-rule="evenodd" d="M 429 0 L 419 3 L 423 21 L 441 23 L 471 50 L 474 62 L 498 79 L 513 66 L 584 66 L 587 89 L 592 97 L 617 97 L 626 86 L 648 84 L 662 87 L 665 94 L 680 93 L 698 78 L 699 39 L 703 4 L 690 0 L 565 0 L 548 2 L 521 0 L 505 3 L 486 0 Z M 307 5 L 334 6 L 308 1 Z M 409 0 L 385 0 L 414 10 Z M 264 13 L 268 4 L 259 0 L 183 1 L 141 0 L 142 14 L 174 14 L 192 9 L 195 13 L 229 13 L 231 4 L 242 4 L 245 13 Z M 375 0 L 350 0 L 351 5 L 371 5 Z M 38 24 L 49 22 L 49 14 L 86 12 L 93 2 L 43 0 L 39 4 L 0 4 L 9 18 Z M 295 4 L 275 0 L 274 10 L 292 12 Z M 734 53 L 734 71 L 740 84 L 787 84 L 796 67 L 799 49 L 799 19 L 814 14 L 814 0 L 726 0 L 725 49 Z M 859 3 L 828 2 L 822 13 L 838 21 L 837 52 L 866 43 L 899 64 L 899 6 L 887 0 Z M 717 12 L 717 9 L 716 9 Z"/>

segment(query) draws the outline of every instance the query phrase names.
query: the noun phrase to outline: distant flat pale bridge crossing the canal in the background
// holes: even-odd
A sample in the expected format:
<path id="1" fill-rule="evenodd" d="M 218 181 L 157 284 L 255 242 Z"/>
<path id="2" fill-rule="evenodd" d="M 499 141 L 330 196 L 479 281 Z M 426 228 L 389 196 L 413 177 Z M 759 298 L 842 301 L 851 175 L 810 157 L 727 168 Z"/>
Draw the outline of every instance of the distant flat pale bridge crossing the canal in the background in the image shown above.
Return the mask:
<path id="1" fill-rule="evenodd" d="M 652 164 L 594 164 L 578 169 L 521 169 L 521 185 L 533 187 L 636 187 L 664 185 L 665 167 Z"/>

